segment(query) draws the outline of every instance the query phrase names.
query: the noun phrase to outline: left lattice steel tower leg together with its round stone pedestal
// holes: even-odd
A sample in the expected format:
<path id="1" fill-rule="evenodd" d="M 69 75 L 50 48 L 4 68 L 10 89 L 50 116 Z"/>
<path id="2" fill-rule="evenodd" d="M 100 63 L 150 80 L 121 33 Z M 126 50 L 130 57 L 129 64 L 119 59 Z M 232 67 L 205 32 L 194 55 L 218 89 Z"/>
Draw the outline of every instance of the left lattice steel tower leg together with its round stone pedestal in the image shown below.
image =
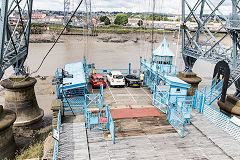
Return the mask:
<path id="1" fill-rule="evenodd" d="M 5 91 L 5 109 L 17 114 L 15 126 L 38 122 L 43 117 L 34 93 L 36 79 L 29 77 L 24 62 L 29 52 L 33 0 L 2 0 L 0 18 L 0 79 L 7 68 L 14 75 L 1 81 Z"/>

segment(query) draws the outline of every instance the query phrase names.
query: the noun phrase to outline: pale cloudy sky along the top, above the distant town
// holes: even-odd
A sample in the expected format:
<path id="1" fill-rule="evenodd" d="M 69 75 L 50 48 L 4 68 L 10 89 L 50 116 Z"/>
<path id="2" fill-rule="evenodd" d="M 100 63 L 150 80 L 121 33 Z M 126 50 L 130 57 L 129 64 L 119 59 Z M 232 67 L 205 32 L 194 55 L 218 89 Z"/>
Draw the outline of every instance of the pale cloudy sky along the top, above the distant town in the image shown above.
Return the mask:
<path id="1" fill-rule="evenodd" d="M 1 4 L 0 0 L 0 4 Z M 23 0 L 25 1 L 25 0 Z M 77 6 L 80 0 L 70 0 L 70 10 L 73 10 Z M 87 0 L 89 1 L 89 0 Z M 182 0 L 155 0 L 155 12 L 158 13 L 181 13 L 181 1 Z M 221 0 L 207 0 L 205 4 L 204 13 L 210 13 L 210 8 L 208 5 L 213 6 L 217 5 Z M 85 10 L 84 5 L 85 0 L 83 0 L 83 4 L 80 7 L 80 10 Z M 92 11 L 123 11 L 123 12 L 152 12 L 153 10 L 153 0 L 91 0 L 92 2 Z M 188 3 L 191 6 L 197 0 L 188 0 Z M 212 3 L 212 4 L 211 4 Z M 225 2 L 220 7 L 220 11 L 229 15 L 232 10 L 232 2 L 229 0 L 225 0 Z M 199 7 L 200 8 L 200 7 Z M 44 9 L 44 10 L 57 10 L 63 11 L 64 9 L 64 0 L 33 0 L 33 9 Z M 197 10 L 197 13 L 199 13 Z M 186 11 L 188 7 L 186 7 Z"/>

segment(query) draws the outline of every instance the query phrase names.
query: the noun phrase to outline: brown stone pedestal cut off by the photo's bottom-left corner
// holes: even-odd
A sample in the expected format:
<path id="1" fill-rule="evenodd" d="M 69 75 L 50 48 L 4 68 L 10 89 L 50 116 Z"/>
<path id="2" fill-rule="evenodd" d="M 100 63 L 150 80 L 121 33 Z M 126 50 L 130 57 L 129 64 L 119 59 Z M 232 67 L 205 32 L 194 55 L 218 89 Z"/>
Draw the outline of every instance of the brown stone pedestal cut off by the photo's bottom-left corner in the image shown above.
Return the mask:
<path id="1" fill-rule="evenodd" d="M 11 110 L 3 110 L 0 106 L 0 159 L 14 158 L 17 145 L 15 143 L 12 126 L 16 114 Z"/>

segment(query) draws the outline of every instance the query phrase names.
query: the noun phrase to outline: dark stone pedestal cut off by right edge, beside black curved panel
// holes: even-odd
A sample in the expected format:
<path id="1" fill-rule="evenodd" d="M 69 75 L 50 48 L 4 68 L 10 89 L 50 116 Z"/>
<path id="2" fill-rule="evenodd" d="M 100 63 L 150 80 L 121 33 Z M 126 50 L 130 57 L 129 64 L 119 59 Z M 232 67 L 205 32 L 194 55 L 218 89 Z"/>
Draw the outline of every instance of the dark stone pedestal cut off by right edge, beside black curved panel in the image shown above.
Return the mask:
<path id="1" fill-rule="evenodd" d="M 220 111 L 229 117 L 236 116 L 240 118 L 240 99 L 227 95 L 225 103 L 218 101 Z"/>

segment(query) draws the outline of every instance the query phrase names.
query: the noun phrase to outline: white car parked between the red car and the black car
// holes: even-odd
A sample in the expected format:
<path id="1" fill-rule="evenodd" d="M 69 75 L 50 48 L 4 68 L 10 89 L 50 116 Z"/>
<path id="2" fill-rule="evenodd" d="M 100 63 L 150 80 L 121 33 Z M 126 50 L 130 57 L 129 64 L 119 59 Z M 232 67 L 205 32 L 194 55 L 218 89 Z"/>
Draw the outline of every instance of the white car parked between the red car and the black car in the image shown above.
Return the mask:
<path id="1" fill-rule="evenodd" d="M 112 71 L 107 74 L 110 86 L 125 86 L 125 79 L 120 71 Z"/>

